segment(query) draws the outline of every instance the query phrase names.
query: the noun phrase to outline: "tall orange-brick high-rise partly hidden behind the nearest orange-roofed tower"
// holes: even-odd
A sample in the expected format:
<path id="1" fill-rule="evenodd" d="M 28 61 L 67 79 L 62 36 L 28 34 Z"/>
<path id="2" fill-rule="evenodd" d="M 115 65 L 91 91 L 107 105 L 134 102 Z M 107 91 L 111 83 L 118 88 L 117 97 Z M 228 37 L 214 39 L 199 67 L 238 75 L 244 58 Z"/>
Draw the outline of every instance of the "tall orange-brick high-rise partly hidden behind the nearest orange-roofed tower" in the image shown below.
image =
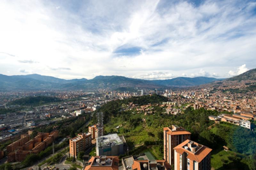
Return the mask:
<path id="1" fill-rule="evenodd" d="M 164 128 L 164 159 L 171 165 L 174 165 L 173 148 L 190 139 L 191 133 L 182 127 L 172 125 L 172 127 Z"/>

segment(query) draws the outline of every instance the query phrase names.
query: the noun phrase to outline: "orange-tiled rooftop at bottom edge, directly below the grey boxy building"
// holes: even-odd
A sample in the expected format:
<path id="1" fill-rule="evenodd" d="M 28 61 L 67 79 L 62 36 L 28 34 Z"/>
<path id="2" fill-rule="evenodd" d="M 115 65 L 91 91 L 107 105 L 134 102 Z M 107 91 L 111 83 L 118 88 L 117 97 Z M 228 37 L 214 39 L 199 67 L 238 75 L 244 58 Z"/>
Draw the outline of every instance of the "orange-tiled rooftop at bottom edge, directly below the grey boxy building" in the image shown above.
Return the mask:
<path id="1" fill-rule="evenodd" d="M 118 170 L 118 156 L 93 156 L 84 170 Z"/>

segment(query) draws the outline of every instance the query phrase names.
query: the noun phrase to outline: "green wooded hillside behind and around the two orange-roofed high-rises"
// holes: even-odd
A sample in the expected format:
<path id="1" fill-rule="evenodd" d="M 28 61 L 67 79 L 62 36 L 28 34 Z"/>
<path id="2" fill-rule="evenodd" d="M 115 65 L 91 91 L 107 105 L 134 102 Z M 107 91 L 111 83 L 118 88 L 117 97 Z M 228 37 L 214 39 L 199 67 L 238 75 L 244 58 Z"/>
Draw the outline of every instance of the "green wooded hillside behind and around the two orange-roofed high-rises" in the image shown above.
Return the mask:
<path id="1" fill-rule="evenodd" d="M 191 132 L 191 140 L 213 149 L 212 167 L 215 169 L 256 168 L 256 137 L 252 131 L 232 124 L 216 125 L 209 130 L 214 121 L 208 116 L 217 116 L 219 112 L 188 107 L 183 114 L 166 114 L 165 108 L 157 105 L 163 101 L 167 98 L 153 95 L 108 102 L 100 108 L 104 113 L 104 133 L 124 135 L 129 155 L 150 151 L 156 159 L 163 159 L 163 128 L 176 124 Z M 127 106 L 130 102 L 138 107 L 151 103 L 152 113 L 130 110 Z M 91 123 L 97 123 L 95 115 Z M 224 145 L 231 151 L 223 153 Z"/>

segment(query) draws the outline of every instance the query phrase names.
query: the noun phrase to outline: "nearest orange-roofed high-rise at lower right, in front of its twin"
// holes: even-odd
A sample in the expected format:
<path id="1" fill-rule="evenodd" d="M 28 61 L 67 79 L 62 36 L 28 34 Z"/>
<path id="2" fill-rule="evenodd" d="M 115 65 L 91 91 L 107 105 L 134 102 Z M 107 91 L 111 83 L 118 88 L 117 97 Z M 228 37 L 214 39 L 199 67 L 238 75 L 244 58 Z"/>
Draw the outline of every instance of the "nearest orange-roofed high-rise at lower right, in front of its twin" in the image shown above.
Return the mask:
<path id="1" fill-rule="evenodd" d="M 186 140 L 174 148 L 174 170 L 210 170 L 212 149 Z"/>

